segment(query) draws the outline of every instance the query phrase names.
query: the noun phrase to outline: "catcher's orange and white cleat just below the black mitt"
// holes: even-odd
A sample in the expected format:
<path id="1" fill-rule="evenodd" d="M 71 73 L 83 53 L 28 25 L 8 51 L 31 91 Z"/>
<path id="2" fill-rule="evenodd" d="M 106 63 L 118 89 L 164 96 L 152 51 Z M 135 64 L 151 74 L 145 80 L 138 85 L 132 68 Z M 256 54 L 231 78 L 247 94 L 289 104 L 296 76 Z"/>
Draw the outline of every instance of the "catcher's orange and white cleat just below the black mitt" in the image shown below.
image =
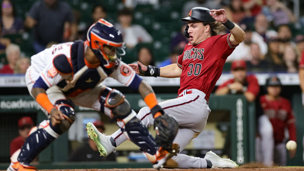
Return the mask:
<path id="1" fill-rule="evenodd" d="M 160 147 L 155 155 L 150 155 L 149 153 L 143 152 L 147 159 L 153 163 L 154 169 L 161 169 L 164 165 L 171 159 L 174 155 L 179 153 L 179 145 L 173 144 L 172 145 L 172 152 L 168 152 Z"/>

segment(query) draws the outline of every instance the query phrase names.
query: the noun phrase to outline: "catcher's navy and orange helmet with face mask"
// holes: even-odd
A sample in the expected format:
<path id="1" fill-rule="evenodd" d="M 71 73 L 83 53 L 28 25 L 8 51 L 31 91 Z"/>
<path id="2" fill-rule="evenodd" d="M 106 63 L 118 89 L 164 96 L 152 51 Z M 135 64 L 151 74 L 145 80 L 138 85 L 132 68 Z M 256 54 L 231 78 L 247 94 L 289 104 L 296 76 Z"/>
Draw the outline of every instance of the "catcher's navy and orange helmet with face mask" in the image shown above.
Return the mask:
<path id="1" fill-rule="evenodd" d="M 123 49 L 124 42 L 121 32 L 105 19 L 99 19 L 92 24 L 88 30 L 87 39 L 90 48 L 106 68 L 114 67 L 117 57 L 116 54 L 114 56 L 106 55 L 103 50 L 104 45 L 121 49 L 122 53 L 118 54 L 120 56 L 126 54 Z"/>

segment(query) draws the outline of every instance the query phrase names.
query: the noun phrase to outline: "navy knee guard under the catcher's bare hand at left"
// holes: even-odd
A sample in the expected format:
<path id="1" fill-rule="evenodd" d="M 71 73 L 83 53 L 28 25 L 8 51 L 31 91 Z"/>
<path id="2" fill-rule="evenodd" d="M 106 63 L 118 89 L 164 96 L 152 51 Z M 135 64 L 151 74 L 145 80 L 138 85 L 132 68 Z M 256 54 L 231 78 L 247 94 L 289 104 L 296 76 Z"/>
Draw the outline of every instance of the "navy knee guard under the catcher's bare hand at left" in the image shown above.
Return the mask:
<path id="1" fill-rule="evenodd" d="M 71 125 L 74 123 L 76 118 L 75 112 L 73 109 L 73 105 L 69 103 L 66 99 L 57 100 L 55 102 L 55 106 L 57 110 L 60 110 L 64 115 L 64 120 L 61 120 L 60 124 L 57 126 L 53 126 L 50 123 L 50 127 L 59 135 L 63 134 L 67 131 Z M 51 122 L 51 120 L 50 120 Z"/>

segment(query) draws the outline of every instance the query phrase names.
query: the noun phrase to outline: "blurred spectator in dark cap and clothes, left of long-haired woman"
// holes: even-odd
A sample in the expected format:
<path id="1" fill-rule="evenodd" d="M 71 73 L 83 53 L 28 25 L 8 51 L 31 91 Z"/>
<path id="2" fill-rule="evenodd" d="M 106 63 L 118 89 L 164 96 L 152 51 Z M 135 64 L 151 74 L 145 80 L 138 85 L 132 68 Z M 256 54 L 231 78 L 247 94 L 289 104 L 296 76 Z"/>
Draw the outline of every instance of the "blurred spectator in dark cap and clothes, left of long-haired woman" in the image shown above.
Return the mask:
<path id="1" fill-rule="evenodd" d="M 269 50 L 265 56 L 265 59 L 270 63 L 270 67 L 274 72 L 286 71 L 284 65 L 283 53 L 280 50 L 280 44 L 282 42 L 276 37 L 271 37 L 268 42 Z"/>

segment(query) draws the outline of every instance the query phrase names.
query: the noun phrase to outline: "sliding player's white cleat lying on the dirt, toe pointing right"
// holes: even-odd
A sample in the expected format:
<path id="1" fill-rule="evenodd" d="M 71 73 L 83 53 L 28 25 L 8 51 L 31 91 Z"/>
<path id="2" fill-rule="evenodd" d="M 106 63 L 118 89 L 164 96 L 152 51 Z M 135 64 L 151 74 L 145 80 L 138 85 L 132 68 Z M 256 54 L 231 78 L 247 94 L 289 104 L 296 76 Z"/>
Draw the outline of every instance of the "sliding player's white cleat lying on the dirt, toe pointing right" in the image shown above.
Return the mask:
<path id="1" fill-rule="evenodd" d="M 212 163 L 212 169 L 215 168 L 239 168 L 236 162 L 230 159 L 223 159 L 216 155 L 214 152 L 207 152 L 204 159 L 208 159 Z"/>

